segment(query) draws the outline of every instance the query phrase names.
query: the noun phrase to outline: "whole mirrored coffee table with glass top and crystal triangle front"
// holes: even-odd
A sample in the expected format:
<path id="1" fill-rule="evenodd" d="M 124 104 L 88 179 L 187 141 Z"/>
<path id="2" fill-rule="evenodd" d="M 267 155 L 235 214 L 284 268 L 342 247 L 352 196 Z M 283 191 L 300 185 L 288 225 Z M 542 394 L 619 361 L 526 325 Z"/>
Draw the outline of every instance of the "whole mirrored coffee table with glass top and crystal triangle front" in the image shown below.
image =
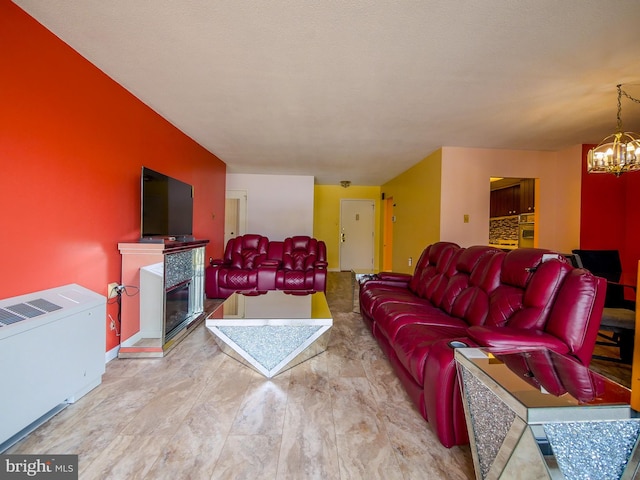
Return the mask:
<path id="1" fill-rule="evenodd" d="M 234 293 L 206 320 L 224 353 L 271 378 L 324 352 L 333 318 L 322 292 Z"/>

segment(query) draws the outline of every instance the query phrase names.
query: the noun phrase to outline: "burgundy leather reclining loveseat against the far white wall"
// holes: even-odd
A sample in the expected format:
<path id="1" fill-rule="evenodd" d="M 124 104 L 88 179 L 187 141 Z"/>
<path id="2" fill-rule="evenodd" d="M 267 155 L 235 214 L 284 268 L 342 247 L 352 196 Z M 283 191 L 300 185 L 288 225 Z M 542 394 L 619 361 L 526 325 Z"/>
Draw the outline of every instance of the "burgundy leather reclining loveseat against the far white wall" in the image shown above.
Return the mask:
<path id="1" fill-rule="evenodd" d="M 230 239 L 224 258 L 209 259 L 205 272 L 207 298 L 227 298 L 237 291 L 285 290 L 324 292 L 327 249 L 322 240 L 298 235 L 269 241 L 247 234 Z"/>

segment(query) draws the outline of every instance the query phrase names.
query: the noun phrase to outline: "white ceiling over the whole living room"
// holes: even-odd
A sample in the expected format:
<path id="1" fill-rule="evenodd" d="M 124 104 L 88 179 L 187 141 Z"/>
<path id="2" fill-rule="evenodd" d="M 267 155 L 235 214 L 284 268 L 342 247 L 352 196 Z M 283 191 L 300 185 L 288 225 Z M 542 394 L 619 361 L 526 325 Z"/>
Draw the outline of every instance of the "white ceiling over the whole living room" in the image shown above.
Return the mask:
<path id="1" fill-rule="evenodd" d="M 230 173 L 379 185 L 441 146 L 598 143 L 640 97 L 638 0 L 14 1 Z"/>

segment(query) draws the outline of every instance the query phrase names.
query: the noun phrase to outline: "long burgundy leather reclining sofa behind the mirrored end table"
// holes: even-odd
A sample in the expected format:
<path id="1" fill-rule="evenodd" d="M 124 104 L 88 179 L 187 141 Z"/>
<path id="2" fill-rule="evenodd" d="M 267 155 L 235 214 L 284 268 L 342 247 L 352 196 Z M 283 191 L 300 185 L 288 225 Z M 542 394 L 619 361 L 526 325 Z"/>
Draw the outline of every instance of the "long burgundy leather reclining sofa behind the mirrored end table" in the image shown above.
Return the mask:
<path id="1" fill-rule="evenodd" d="M 604 279 L 548 250 L 438 242 L 413 275 L 381 273 L 362 284 L 360 310 L 422 416 L 452 447 L 469 440 L 451 342 L 542 346 L 588 365 L 605 290 Z"/>

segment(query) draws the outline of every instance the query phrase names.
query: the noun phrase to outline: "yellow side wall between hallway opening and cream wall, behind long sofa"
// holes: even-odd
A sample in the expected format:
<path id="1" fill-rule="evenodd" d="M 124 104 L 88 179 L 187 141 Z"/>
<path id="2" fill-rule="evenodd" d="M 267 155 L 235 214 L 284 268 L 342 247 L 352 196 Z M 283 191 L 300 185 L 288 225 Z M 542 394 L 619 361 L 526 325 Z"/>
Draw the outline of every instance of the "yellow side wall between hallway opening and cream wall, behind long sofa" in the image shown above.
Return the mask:
<path id="1" fill-rule="evenodd" d="M 437 150 L 382 186 L 385 198 L 393 198 L 395 205 L 392 268 L 396 272 L 412 273 L 424 248 L 440 240 L 441 174 L 442 150 Z"/>

